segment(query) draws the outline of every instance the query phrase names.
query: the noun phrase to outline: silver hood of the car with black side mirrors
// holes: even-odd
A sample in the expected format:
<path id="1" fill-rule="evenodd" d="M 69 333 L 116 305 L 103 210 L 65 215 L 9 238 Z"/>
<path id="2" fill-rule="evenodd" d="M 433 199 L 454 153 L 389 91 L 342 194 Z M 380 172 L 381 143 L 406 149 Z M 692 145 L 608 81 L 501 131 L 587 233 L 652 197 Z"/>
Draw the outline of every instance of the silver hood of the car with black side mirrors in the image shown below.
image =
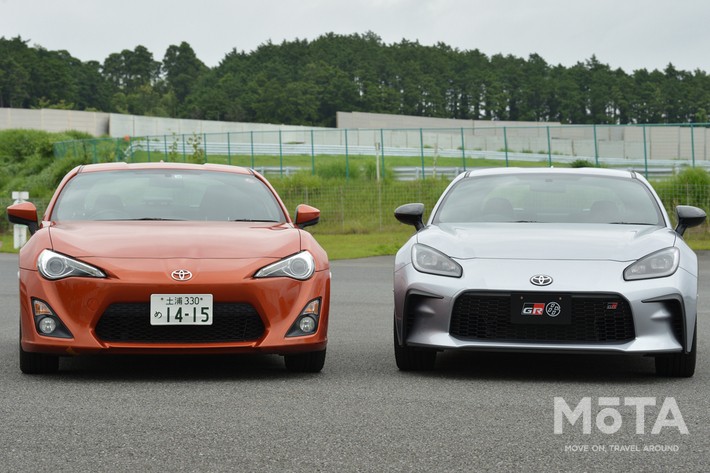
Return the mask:
<path id="1" fill-rule="evenodd" d="M 419 243 L 460 259 L 635 261 L 676 238 L 667 227 L 562 223 L 440 224 L 417 234 Z"/>

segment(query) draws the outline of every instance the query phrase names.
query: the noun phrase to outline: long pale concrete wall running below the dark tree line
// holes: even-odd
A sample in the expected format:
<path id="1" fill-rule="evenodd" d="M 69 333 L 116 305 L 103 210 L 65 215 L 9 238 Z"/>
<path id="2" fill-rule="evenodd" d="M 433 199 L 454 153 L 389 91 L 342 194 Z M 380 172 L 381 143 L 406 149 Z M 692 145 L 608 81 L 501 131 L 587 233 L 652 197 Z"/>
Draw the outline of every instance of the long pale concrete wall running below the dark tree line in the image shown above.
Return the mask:
<path id="1" fill-rule="evenodd" d="M 360 147 L 359 153 L 398 149 L 552 154 L 580 159 L 710 162 L 710 129 L 678 126 L 581 126 L 537 122 L 450 120 L 362 112 L 338 112 L 338 128 L 143 117 L 74 110 L 0 108 L 0 129 L 79 130 L 94 136 L 157 137 L 200 134 L 224 143 Z M 229 135 L 227 135 L 229 133 Z M 372 150 L 372 151 L 371 151 Z M 435 151 L 436 150 L 436 151 Z"/>

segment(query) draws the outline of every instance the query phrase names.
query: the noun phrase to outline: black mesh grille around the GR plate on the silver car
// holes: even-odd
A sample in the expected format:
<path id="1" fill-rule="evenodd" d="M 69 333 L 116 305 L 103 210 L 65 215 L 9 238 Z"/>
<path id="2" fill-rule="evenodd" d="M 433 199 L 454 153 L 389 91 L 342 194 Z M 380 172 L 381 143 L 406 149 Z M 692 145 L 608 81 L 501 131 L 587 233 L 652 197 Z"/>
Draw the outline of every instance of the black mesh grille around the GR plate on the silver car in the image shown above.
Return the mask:
<path id="1" fill-rule="evenodd" d="M 510 297 L 462 294 L 454 304 L 449 333 L 462 339 L 496 341 L 624 342 L 636 337 L 629 304 L 618 295 L 572 294 L 569 325 L 514 324 Z"/>

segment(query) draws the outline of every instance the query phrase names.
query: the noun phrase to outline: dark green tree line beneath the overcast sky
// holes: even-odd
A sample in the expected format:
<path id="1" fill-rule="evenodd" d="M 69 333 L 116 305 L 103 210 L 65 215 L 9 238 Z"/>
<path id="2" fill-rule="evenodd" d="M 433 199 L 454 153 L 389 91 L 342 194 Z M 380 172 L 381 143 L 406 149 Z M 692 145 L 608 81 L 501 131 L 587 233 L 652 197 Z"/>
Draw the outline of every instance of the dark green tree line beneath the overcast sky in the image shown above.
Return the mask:
<path id="1" fill-rule="evenodd" d="M 337 111 L 565 124 L 705 123 L 705 71 L 565 67 L 537 54 L 487 56 L 375 33 L 232 49 L 207 67 L 187 42 L 161 60 L 144 46 L 82 62 L 0 37 L 0 107 L 334 126 Z"/>

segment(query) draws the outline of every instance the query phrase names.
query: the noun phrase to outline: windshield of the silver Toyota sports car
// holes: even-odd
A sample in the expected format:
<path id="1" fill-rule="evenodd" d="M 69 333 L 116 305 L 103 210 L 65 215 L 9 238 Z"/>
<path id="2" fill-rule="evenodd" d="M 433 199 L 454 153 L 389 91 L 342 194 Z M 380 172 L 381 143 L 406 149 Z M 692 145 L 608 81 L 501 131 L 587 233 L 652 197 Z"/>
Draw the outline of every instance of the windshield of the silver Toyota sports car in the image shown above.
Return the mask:
<path id="1" fill-rule="evenodd" d="M 434 216 L 434 223 L 454 222 L 664 225 L 655 198 L 636 179 L 553 173 L 462 179 Z"/>

